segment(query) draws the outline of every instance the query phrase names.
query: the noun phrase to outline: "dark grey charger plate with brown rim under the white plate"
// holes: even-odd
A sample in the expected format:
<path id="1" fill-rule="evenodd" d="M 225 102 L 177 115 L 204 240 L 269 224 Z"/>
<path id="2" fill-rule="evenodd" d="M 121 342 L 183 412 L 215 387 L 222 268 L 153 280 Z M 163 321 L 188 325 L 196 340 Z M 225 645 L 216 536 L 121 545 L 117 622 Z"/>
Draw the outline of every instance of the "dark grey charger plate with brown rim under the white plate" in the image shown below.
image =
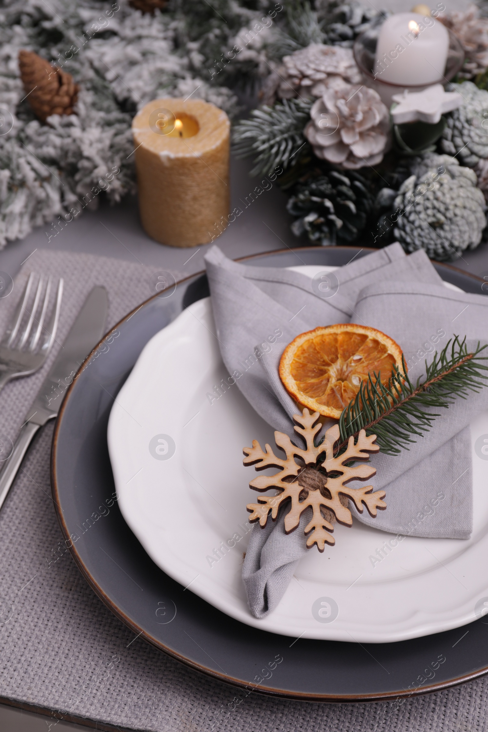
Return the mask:
<path id="1" fill-rule="evenodd" d="M 293 250 L 280 250 L 244 260 L 258 266 L 296 266 L 299 261 L 342 266 L 371 250 L 297 251 L 298 258 Z M 444 264 L 435 268 L 443 280 L 483 294 L 478 277 Z M 86 360 L 64 399 L 51 457 L 54 505 L 66 539 L 83 528 L 70 551 L 91 587 L 135 634 L 198 671 L 247 687 L 245 693 L 309 701 L 402 698 L 487 673 L 484 619 L 468 626 L 462 643 L 457 641 L 465 628 L 399 643 L 293 641 L 241 624 L 168 577 L 149 559 L 116 503 L 89 526 L 91 515 L 115 492 L 107 447 L 114 398 L 149 339 L 185 307 L 208 295 L 206 275 L 199 273 L 173 285 L 169 296 L 163 291 L 129 313 L 116 326 L 120 336 L 108 351 Z M 442 665 L 439 657 L 446 659 Z"/>

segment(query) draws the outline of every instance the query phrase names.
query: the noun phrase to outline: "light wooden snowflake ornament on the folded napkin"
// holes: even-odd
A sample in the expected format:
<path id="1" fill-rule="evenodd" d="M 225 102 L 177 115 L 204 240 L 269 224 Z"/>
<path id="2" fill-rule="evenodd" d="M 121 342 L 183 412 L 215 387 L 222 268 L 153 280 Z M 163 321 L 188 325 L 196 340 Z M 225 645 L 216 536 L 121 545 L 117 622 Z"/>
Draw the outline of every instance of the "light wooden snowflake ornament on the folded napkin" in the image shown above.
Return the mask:
<path id="1" fill-rule="evenodd" d="M 299 525 L 302 512 L 312 507 L 312 520 L 305 527 L 305 534 L 309 534 L 307 547 L 316 544 L 318 550 L 323 551 L 326 543 L 335 543 L 334 537 L 331 537 L 334 520 L 345 526 L 352 526 L 353 518 L 348 509 L 349 498 L 354 501 L 359 512 L 363 512 L 364 504 L 369 515 L 375 517 L 377 509 L 386 508 L 386 503 L 381 500 L 386 494 L 384 490 L 372 493 L 372 485 L 364 488 L 345 486 L 351 480 L 365 480 L 375 475 L 376 470 L 372 466 L 346 466 L 345 463 L 369 460 L 369 453 L 380 449 L 374 444 L 376 436 L 367 437 L 365 431 L 361 430 L 356 444 L 354 438 L 350 437 L 345 452 L 334 458 L 339 425 L 330 427 L 323 442 L 315 447 L 315 436 L 322 428 L 319 418 L 318 412 L 309 414 L 308 409 L 304 409 L 301 415 L 293 416 L 295 430 L 304 438 L 307 449 L 296 447 L 288 435 L 282 432 L 274 433 L 277 447 L 285 452 L 285 459 L 277 458 L 269 444 L 266 444 L 266 452 L 263 452 L 257 440 L 252 441 L 252 447 L 244 447 L 243 452 L 246 455 L 245 466 L 254 465 L 258 471 L 279 468 L 278 473 L 257 477 L 249 483 L 249 488 L 255 490 L 277 488 L 280 491 L 276 496 L 258 497 L 257 504 L 248 504 L 247 510 L 251 513 L 249 521 L 259 520 L 261 526 L 266 526 L 270 513 L 271 518 L 276 519 L 279 507 L 291 499 L 290 510 L 285 516 L 285 531 L 289 534 Z M 322 461 L 323 453 L 325 460 Z"/>

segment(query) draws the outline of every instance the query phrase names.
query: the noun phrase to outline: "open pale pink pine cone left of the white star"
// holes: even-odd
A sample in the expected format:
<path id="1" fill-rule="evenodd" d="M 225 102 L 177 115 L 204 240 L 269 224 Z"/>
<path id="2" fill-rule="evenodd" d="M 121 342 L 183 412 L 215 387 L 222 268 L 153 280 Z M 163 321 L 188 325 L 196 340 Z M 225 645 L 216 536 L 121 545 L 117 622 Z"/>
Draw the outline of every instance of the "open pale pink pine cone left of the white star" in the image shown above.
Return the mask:
<path id="1" fill-rule="evenodd" d="M 383 160 L 390 124 L 388 109 L 374 89 L 347 83 L 326 89 L 310 116 L 304 135 L 321 160 L 346 170 Z"/>

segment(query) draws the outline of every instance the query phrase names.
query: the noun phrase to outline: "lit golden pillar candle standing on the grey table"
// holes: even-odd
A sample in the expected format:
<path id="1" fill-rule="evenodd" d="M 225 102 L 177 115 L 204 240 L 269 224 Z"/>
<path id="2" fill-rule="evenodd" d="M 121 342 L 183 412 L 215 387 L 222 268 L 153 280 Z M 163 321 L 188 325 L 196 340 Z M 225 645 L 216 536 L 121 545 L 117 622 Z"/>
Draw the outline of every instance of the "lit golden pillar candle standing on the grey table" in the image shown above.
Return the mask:
<path id="1" fill-rule="evenodd" d="M 152 239 L 195 247 L 225 227 L 229 131 L 225 112 L 202 100 L 157 99 L 136 114 L 140 220 Z"/>

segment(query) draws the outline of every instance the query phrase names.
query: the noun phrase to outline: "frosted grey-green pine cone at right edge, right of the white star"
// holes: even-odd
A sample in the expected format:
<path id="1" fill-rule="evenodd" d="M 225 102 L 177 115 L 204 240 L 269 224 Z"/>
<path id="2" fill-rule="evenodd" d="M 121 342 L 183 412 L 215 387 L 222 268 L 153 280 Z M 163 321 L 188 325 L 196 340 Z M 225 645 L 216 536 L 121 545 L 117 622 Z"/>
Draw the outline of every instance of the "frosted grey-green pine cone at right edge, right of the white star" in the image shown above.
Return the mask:
<path id="1" fill-rule="evenodd" d="M 451 84 L 449 89 L 459 91 L 464 102 L 447 116 L 441 146 L 443 152 L 459 157 L 462 165 L 474 168 L 488 157 L 488 91 L 472 81 Z"/>

